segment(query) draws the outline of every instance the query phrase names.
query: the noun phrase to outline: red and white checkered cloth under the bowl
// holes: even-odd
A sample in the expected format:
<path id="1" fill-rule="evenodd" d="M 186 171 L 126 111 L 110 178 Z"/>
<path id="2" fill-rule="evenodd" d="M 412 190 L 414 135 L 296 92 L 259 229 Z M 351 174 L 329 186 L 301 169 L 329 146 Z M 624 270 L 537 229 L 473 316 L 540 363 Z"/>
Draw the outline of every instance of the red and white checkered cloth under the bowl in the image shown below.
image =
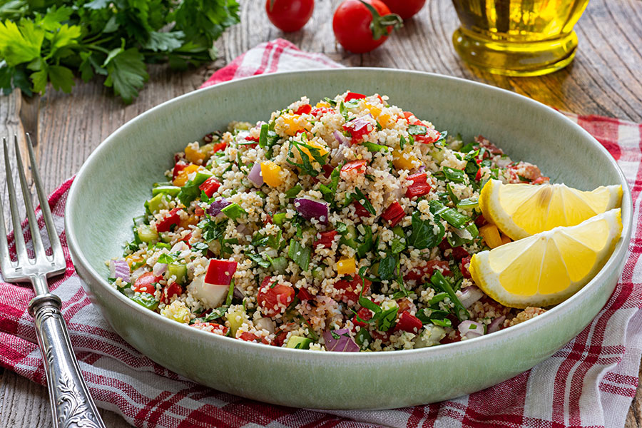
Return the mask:
<path id="1" fill-rule="evenodd" d="M 214 73 L 204 86 L 241 76 L 340 66 L 284 40 L 251 49 Z M 540 365 L 489 389 L 408 409 L 315 412 L 254 402 L 178 376 L 118 337 L 93 307 L 66 253 L 64 277 L 51 282 L 63 300 L 71 342 L 99 407 L 136 427 L 623 427 L 638 385 L 642 355 L 642 125 L 569 114 L 618 161 L 633 193 L 636 221 L 630 255 L 606 307 L 563 349 Z M 49 203 L 61 242 L 71 180 Z M 11 243 L 13 235 L 9 235 Z M 30 238 L 29 236 L 27 237 Z M 0 363 L 45 384 L 27 303 L 30 287 L 0 277 Z"/>

